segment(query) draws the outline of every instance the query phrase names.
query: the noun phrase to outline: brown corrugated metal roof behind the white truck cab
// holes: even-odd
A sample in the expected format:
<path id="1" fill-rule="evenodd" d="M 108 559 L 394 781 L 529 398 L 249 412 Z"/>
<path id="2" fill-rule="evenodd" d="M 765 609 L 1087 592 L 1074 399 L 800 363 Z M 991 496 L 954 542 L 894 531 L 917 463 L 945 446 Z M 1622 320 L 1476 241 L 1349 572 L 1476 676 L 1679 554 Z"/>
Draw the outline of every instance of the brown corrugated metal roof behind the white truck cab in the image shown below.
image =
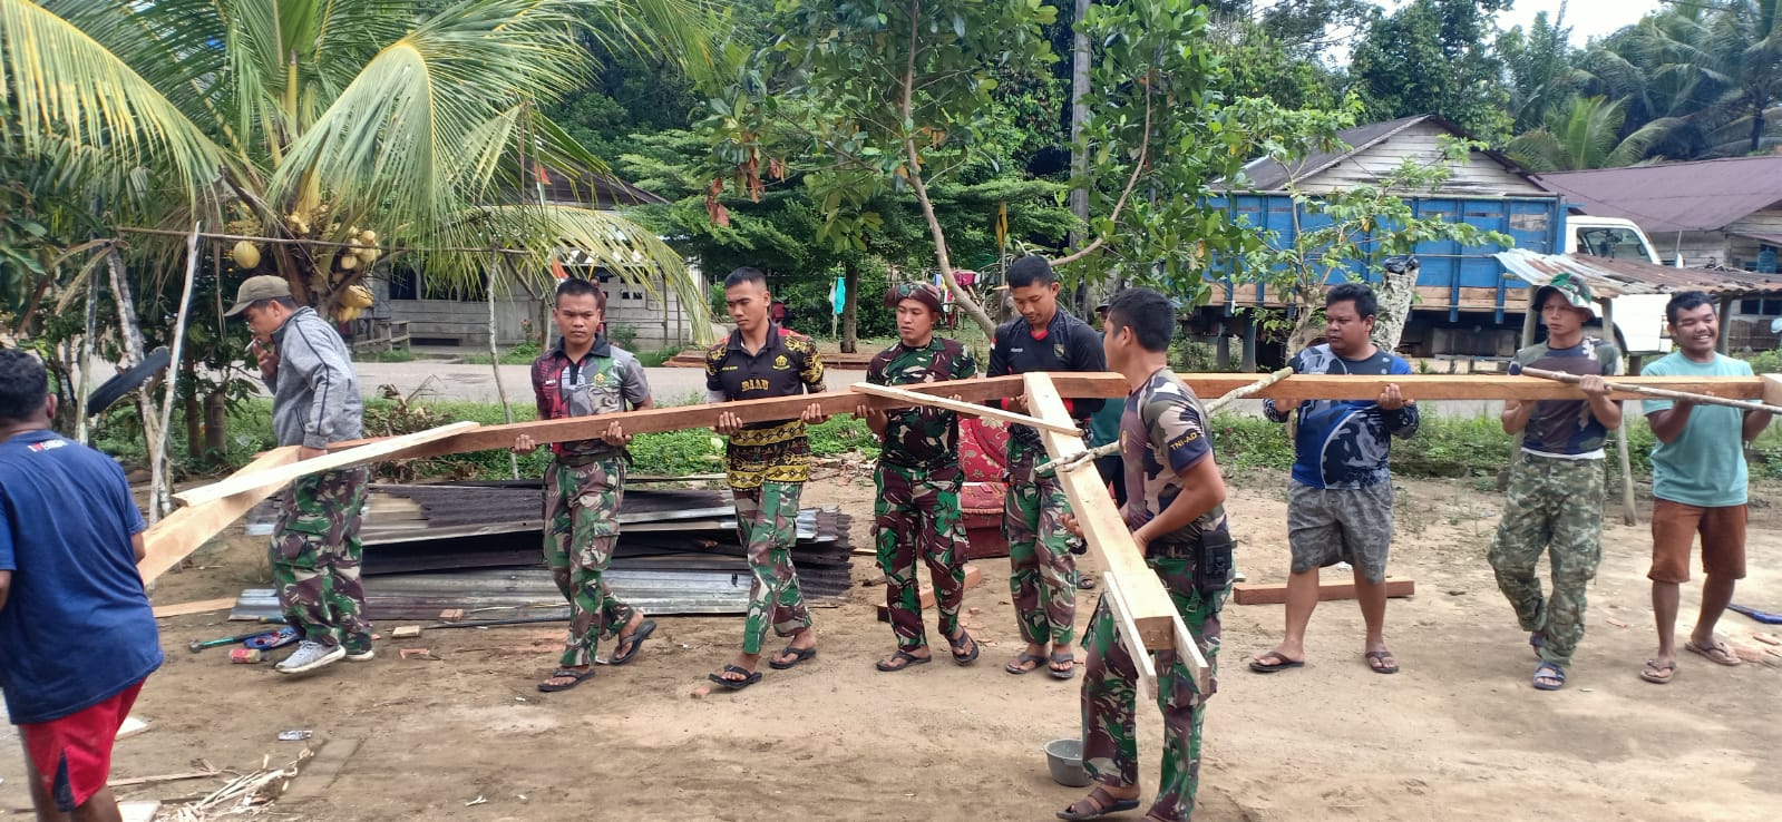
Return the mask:
<path id="1" fill-rule="evenodd" d="M 1536 174 L 1534 183 L 1597 217 L 1654 231 L 1714 231 L 1782 201 L 1782 157 Z"/>

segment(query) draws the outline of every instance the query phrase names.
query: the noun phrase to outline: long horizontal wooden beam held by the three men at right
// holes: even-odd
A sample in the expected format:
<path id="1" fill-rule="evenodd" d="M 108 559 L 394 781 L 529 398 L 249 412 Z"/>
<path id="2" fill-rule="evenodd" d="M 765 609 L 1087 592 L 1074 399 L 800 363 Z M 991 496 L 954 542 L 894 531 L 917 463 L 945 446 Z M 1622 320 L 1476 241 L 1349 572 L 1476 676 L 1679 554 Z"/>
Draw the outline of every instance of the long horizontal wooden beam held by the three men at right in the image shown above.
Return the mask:
<path id="1" fill-rule="evenodd" d="M 1196 395 L 1217 397 L 1242 388 L 1255 374 L 1181 374 Z M 1761 377 L 1614 377 L 1616 383 L 1668 388 L 1672 391 L 1714 393 L 1752 400 L 1764 395 Z M 1251 399 L 1267 400 L 1370 400 L 1388 383 L 1397 383 L 1404 397 L 1415 400 L 1581 400 L 1584 391 L 1565 383 L 1508 374 L 1399 374 L 1390 377 L 1353 374 L 1296 374 Z M 1638 400 L 1638 393 L 1613 391 L 1613 399 Z M 1768 400 L 1766 400 L 1768 402 Z"/>

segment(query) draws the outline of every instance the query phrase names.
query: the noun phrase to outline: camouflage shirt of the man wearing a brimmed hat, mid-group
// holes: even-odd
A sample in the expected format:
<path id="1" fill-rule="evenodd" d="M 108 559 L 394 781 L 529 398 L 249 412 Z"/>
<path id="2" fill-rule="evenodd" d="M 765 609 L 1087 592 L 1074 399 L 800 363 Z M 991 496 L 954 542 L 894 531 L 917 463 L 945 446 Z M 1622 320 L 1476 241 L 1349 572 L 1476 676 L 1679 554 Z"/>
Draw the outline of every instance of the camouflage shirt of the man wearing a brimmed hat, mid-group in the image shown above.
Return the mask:
<path id="1" fill-rule="evenodd" d="M 971 352 L 943 336 L 930 338 L 920 349 L 900 342 L 866 365 L 866 381 L 875 386 L 971 379 L 977 374 L 978 363 L 971 359 Z M 903 468 L 957 464 L 959 415 L 932 406 L 887 411 L 880 459 Z"/>

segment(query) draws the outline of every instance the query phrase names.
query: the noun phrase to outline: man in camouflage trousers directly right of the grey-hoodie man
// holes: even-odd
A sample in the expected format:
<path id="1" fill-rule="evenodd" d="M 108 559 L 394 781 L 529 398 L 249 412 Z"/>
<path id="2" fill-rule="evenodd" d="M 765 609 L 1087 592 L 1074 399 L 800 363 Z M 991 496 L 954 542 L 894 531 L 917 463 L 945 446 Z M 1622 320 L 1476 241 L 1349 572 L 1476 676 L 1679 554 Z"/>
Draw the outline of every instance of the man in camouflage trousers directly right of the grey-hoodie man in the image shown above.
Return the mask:
<path id="1" fill-rule="evenodd" d="M 643 367 L 629 351 L 606 340 L 606 294 L 586 279 L 565 279 L 551 311 L 558 343 L 533 361 L 533 395 L 540 420 L 611 415 L 650 407 Z M 568 600 L 568 639 L 558 669 L 538 690 L 568 690 L 593 676 L 593 651 L 602 637 L 618 637 L 608 664 L 624 665 L 656 630 L 640 608 L 625 605 L 602 578 L 618 546 L 618 504 L 625 496 L 625 445 L 620 423 L 599 439 L 551 447 L 545 468 L 545 564 Z M 536 443 L 520 434 L 513 450 L 529 454 Z"/>

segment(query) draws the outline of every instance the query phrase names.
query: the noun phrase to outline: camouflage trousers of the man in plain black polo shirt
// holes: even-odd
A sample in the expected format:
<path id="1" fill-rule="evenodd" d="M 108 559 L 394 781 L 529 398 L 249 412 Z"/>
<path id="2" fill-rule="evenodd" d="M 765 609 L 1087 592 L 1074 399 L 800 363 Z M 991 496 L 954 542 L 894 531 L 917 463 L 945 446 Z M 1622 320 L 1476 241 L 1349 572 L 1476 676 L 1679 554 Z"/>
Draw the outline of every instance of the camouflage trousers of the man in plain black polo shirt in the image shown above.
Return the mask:
<path id="1" fill-rule="evenodd" d="M 1044 461 L 1046 452 L 1009 439 L 1009 495 L 1003 498 L 1009 592 L 1021 639 L 1069 644 L 1076 623 L 1076 559 L 1064 514 L 1071 507 L 1057 477 L 1034 471 Z"/>

